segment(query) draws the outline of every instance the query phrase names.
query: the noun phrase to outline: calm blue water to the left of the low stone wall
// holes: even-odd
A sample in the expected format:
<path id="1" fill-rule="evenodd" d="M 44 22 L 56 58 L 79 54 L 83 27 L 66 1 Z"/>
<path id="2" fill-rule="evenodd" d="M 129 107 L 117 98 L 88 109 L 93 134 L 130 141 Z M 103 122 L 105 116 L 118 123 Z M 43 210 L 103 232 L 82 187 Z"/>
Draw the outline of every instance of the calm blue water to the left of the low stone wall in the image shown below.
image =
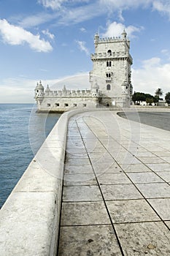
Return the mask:
<path id="1" fill-rule="evenodd" d="M 36 113 L 32 104 L 0 104 L 0 208 L 60 116 Z"/>

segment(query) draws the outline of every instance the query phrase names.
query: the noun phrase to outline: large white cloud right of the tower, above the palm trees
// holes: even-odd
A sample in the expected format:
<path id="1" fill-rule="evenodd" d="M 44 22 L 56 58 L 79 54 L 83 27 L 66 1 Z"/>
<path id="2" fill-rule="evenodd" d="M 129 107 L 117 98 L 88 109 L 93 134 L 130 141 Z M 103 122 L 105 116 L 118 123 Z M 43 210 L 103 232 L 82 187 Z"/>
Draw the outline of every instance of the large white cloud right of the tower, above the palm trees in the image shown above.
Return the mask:
<path id="1" fill-rule="evenodd" d="M 154 95 L 161 88 L 163 93 L 170 91 L 170 64 L 161 64 L 161 59 L 152 58 L 143 61 L 141 69 L 132 69 L 134 91 Z"/>

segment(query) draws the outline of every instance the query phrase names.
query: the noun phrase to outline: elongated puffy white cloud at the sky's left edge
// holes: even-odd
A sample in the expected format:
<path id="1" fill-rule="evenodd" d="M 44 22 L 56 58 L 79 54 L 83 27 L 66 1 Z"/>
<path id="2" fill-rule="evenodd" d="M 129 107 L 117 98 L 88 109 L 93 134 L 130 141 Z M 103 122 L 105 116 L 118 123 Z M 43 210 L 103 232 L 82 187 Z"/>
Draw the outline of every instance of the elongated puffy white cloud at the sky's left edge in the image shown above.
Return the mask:
<path id="1" fill-rule="evenodd" d="M 39 35 L 31 34 L 31 32 L 19 26 L 9 24 L 7 20 L 0 20 L 0 35 L 4 42 L 9 45 L 23 45 L 27 43 L 31 49 L 38 52 L 53 50 L 50 42 L 40 39 Z"/>

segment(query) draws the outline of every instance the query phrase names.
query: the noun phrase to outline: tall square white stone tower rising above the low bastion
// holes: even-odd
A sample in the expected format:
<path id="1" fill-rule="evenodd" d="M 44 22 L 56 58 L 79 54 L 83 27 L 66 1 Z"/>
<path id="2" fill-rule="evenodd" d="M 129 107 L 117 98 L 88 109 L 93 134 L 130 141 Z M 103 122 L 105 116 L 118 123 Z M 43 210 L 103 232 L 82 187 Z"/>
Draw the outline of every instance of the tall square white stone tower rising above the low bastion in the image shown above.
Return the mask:
<path id="1" fill-rule="evenodd" d="M 91 54 L 93 70 L 90 72 L 91 89 L 97 82 L 101 91 L 100 104 L 126 108 L 130 106 L 131 64 L 130 41 L 125 30 L 119 38 L 94 37 L 95 53 Z"/>

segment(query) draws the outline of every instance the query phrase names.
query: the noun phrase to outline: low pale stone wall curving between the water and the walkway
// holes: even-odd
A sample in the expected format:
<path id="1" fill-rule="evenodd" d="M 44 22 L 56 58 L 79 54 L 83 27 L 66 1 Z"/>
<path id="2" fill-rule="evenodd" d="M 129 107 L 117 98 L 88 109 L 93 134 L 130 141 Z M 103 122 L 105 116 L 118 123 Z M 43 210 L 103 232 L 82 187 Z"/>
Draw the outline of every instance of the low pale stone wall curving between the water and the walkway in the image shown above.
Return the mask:
<path id="1" fill-rule="evenodd" d="M 56 254 L 67 126 L 69 118 L 81 112 L 59 118 L 1 208 L 1 255 Z"/>

